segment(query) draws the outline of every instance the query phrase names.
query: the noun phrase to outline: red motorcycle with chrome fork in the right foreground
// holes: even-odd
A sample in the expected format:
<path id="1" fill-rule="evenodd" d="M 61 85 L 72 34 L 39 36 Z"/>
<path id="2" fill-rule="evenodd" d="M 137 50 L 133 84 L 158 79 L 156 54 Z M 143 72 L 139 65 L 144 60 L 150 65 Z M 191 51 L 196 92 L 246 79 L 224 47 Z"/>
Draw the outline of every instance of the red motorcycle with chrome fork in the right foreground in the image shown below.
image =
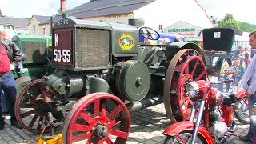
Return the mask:
<path id="1" fill-rule="evenodd" d="M 227 80 L 224 82 L 234 82 Z M 223 94 L 208 81 L 194 81 L 186 86 L 186 96 L 194 105 L 190 121 L 174 123 L 163 134 L 164 143 L 222 143 L 237 130 L 233 121 L 234 94 Z"/>

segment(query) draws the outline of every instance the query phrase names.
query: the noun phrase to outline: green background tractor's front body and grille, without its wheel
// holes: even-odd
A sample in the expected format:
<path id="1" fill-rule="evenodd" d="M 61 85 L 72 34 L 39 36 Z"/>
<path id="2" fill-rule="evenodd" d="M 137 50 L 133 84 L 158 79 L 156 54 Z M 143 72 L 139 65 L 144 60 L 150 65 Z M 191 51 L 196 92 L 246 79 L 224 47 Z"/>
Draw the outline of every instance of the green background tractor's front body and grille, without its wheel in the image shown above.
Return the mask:
<path id="1" fill-rule="evenodd" d="M 51 36 L 16 35 L 13 42 L 22 50 L 22 66 L 14 73 L 14 78 L 22 76 L 42 78 L 50 66 Z"/>

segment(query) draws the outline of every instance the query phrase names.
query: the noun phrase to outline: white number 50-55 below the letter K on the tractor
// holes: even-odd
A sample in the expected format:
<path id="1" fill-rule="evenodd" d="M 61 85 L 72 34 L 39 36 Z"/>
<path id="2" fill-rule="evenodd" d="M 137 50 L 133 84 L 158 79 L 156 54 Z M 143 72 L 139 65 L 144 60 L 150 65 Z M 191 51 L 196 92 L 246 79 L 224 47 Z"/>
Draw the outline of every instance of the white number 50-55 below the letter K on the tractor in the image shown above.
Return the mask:
<path id="1" fill-rule="evenodd" d="M 57 50 L 54 49 L 55 62 L 70 62 L 70 50 Z"/>

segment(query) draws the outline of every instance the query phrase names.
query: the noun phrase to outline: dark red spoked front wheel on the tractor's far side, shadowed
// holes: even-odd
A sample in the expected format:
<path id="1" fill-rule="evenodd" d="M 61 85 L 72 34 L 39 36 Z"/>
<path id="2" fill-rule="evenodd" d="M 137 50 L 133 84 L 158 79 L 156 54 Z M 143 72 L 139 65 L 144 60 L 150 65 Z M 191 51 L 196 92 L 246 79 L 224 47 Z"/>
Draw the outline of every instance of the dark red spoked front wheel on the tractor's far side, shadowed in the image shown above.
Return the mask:
<path id="1" fill-rule="evenodd" d="M 15 102 L 15 114 L 18 123 L 26 130 L 32 133 L 41 133 L 46 127 L 45 132 L 50 132 L 51 127 L 46 123 L 54 121 L 52 114 L 43 110 L 42 104 L 46 102 L 54 102 L 54 98 L 47 97 L 47 94 L 54 95 L 52 90 L 44 91 L 46 97 L 42 98 L 42 80 L 38 79 L 24 86 L 19 93 Z M 61 123 L 54 123 L 54 128 Z"/>

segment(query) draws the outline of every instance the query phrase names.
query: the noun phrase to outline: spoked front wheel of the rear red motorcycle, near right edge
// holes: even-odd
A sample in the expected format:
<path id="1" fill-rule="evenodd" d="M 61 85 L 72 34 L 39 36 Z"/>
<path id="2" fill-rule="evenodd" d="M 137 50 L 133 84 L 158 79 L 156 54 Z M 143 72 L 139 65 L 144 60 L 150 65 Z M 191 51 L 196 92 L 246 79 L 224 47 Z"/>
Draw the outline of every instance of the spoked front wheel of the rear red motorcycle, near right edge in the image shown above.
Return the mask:
<path id="1" fill-rule="evenodd" d="M 238 98 L 235 105 L 236 105 L 236 110 L 234 110 L 234 117 L 237 118 L 239 122 L 242 122 L 244 124 L 249 124 L 250 117 L 249 117 L 248 99 Z"/>

